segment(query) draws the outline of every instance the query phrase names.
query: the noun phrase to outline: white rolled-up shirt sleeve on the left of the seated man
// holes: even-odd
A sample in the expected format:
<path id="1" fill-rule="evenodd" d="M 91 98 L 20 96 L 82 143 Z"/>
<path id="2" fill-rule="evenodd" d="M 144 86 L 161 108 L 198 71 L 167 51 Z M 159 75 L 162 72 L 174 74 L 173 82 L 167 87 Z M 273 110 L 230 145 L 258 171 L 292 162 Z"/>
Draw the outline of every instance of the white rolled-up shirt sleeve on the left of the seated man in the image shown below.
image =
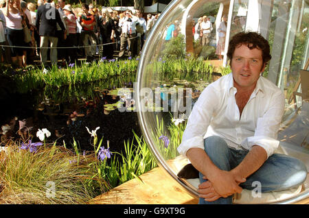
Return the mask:
<path id="1" fill-rule="evenodd" d="M 218 97 L 213 87 L 207 86 L 196 101 L 194 108 L 187 120 L 183 132 L 181 145 L 177 148 L 179 154 L 186 157 L 187 150 L 192 147 L 204 149 L 204 136 L 209 126 L 214 108 L 218 104 Z"/>

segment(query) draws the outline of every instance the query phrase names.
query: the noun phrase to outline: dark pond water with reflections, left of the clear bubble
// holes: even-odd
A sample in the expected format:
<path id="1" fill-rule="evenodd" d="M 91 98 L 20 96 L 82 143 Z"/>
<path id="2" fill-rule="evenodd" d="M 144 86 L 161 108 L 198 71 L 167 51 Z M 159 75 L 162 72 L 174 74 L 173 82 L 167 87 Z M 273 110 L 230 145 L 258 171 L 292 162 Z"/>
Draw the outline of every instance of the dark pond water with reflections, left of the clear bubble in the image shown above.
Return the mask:
<path id="1" fill-rule="evenodd" d="M 130 81 L 130 80 L 129 80 Z M 56 89 L 47 87 L 27 94 L 14 93 L 3 97 L 5 111 L 1 114 L 1 144 L 9 138 L 27 139 L 34 142 L 38 129 L 47 128 L 52 136 L 47 143 L 71 147 L 75 140 L 80 149 L 93 150 L 89 130 L 98 130 L 104 146 L 109 141 L 111 150 L 121 151 L 124 141 L 133 139 L 133 131 L 141 135 L 136 112 L 117 110 L 120 96 L 115 86 L 131 88 L 131 82 L 111 84 L 98 82 L 87 86 Z"/>

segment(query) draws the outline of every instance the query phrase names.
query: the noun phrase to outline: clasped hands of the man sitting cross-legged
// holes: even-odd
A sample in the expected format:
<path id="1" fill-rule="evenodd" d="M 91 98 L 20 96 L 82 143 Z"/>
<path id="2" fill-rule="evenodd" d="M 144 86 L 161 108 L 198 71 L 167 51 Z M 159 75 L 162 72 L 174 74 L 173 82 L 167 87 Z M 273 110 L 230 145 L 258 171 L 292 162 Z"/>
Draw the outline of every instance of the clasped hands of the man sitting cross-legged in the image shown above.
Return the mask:
<path id="1" fill-rule="evenodd" d="M 204 177 L 206 180 L 207 178 Z M 198 186 L 200 197 L 204 197 L 207 202 L 212 202 L 219 197 L 228 197 L 233 193 L 241 193 L 240 183 L 246 179 L 240 178 L 231 171 L 217 171 L 211 178 Z"/>

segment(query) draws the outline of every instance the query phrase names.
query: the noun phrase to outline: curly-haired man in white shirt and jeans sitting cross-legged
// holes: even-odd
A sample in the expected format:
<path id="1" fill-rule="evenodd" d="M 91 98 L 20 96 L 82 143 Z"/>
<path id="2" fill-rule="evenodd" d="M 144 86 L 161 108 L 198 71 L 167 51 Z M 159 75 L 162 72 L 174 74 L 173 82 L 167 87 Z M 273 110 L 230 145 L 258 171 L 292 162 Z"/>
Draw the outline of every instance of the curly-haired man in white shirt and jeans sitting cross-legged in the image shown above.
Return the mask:
<path id="1" fill-rule="evenodd" d="M 199 204 L 232 204 L 234 193 L 282 191 L 306 180 L 306 165 L 273 154 L 284 93 L 262 77 L 271 60 L 267 40 L 240 32 L 229 42 L 232 73 L 209 84 L 196 101 L 178 151 L 200 172 Z"/>

